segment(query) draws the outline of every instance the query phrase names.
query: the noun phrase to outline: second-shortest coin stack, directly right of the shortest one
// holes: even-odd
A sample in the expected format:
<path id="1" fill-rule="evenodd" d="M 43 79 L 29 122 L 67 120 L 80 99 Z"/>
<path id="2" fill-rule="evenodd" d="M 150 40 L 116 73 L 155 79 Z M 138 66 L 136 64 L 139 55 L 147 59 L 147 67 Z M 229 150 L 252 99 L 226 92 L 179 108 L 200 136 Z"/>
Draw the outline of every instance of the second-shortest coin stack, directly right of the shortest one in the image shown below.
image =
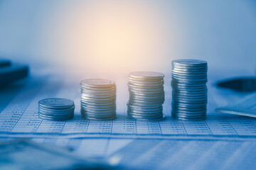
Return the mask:
<path id="1" fill-rule="evenodd" d="M 116 113 L 116 85 L 106 79 L 85 79 L 81 86 L 81 115 L 90 120 L 113 120 Z"/>

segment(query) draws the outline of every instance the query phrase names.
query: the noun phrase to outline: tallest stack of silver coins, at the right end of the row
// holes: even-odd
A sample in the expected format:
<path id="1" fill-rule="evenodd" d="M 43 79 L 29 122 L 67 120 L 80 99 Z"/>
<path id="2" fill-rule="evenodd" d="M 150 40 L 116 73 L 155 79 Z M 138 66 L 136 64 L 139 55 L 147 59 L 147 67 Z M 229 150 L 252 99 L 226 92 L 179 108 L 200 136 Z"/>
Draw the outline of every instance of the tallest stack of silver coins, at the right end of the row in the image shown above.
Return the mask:
<path id="1" fill-rule="evenodd" d="M 173 118 L 203 120 L 207 111 L 207 62 L 174 60 L 172 62 Z"/>

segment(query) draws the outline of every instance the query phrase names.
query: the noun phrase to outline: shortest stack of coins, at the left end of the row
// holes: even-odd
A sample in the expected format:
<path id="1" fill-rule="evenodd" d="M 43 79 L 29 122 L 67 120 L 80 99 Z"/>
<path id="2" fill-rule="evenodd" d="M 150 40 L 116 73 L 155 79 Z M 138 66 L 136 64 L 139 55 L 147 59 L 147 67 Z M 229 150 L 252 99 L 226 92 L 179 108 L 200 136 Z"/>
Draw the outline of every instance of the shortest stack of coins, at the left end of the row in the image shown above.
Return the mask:
<path id="1" fill-rule="evenodd" d="M 74 102 L 65 98 L 46 98 L 38 102 L 38 116 L 45 120 L 71 119 L 74 110 Z"/>

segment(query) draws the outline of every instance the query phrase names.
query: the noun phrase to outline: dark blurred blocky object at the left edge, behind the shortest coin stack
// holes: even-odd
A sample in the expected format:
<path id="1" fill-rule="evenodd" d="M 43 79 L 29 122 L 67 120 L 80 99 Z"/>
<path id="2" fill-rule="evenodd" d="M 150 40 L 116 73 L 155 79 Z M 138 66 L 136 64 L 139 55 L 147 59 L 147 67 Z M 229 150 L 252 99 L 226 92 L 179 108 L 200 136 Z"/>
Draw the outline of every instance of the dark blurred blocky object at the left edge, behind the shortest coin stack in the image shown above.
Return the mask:
<path id="1" fill-rule="evenodd" d="M 27 76 L 27 65 L 13 64 L 10 60 L 0 59 L 0 86 L 5 86 Z"/>

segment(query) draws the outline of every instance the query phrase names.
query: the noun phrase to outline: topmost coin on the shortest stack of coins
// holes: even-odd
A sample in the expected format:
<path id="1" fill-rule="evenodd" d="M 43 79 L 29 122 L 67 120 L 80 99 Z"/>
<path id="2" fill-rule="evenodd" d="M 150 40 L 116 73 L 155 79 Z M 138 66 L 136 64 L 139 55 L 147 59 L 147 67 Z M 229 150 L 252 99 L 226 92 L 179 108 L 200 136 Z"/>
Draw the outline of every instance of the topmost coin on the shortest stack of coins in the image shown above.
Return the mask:
<path id="1" fill-rule="evenodd" d="M 73 101 L 65 98 L 45 98 L 39 101 L 38 105 L 44 108 L 71 108 L 75 106 Z"/>

